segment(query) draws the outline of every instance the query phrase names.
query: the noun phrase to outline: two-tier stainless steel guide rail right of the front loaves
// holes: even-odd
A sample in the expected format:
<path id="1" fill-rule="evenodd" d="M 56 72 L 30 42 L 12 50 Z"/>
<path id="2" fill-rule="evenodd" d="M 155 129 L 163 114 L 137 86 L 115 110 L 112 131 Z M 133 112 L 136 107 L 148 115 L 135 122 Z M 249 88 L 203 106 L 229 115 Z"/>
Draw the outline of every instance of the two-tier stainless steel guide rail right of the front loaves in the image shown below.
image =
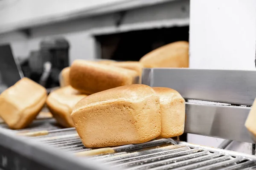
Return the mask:
<path id="1" fill-rule="evenodd" d="M 256 98 L 256 71 L 147 68 L 142 83 L 173 88 L 188 101 L 186 133 L 254 143 L 244 123 Z"/>

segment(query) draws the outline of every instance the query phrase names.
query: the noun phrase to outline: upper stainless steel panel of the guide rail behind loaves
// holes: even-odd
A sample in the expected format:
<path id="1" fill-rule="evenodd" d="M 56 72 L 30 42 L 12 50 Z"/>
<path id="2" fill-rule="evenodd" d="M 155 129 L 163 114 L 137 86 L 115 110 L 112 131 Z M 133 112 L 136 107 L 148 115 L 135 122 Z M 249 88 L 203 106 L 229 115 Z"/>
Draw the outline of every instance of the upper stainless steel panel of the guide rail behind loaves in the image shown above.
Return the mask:
<path id="1" fill-rule="evenodd" d="M 142 83 L 173 88 L 186 99 L 252 105 L 256 97 L 256 71 L 146 68 Z"/>

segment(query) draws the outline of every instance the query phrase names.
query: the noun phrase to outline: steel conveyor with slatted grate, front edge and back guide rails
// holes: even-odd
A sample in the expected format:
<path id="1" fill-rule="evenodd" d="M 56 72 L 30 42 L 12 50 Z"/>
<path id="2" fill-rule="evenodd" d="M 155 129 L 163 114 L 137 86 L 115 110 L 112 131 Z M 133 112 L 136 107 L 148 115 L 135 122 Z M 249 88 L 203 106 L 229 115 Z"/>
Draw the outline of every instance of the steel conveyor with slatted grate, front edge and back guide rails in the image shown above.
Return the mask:
<path id="1" fill-rule="evenodd" d="M 186 133 L 253 143 L 244 127 L 256 96 L 253 77 L 256 71 L 148 68 L 142 82 L 180 92 L 186 99 Z M 45 130 L 50 133 L 26 136 Z M 0 167 L 7 170 L 256 168 L 254 155 L 172 139 L 114 147 L 115 153 L 102 156 L 78 156 L 91 148 L 83 146 L 75 130 L 62 130 L 54 119 L 35 120 L 23 130 L 1 124 L 0 139 Z"/>

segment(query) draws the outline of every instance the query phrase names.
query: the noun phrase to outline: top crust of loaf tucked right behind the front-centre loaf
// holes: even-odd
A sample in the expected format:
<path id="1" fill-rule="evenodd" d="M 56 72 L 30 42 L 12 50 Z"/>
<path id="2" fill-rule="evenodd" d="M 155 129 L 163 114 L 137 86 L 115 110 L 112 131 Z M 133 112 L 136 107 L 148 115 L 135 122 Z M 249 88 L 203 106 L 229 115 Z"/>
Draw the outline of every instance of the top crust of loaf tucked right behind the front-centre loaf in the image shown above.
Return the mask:
<path id="1" fill-rule="evenodd" d="M 175 91 L 172 88 L 165 88 L 165 87 L 153 87 L 154 91 L 160 97 L 160 103 L 166 104 L 170 102 L 170 99 L 183 99 L 179 92 Z M 183 99 L 185 102 L 185 99 Z"/>

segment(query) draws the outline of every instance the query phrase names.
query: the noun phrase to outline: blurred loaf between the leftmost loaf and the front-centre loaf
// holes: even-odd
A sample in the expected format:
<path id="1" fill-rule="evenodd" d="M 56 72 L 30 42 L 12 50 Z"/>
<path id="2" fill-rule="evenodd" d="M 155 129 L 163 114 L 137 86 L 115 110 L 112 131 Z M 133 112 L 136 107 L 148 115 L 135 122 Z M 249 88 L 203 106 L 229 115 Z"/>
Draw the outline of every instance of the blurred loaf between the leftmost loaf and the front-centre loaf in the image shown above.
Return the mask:
<path id="1" fill-rule="evenodd" d="M 74 127 L 70 114 L 76 103 L 86 96 L 69 85 L 52 91 L 47 97 L 47 106 L 60 125 Z"/>

